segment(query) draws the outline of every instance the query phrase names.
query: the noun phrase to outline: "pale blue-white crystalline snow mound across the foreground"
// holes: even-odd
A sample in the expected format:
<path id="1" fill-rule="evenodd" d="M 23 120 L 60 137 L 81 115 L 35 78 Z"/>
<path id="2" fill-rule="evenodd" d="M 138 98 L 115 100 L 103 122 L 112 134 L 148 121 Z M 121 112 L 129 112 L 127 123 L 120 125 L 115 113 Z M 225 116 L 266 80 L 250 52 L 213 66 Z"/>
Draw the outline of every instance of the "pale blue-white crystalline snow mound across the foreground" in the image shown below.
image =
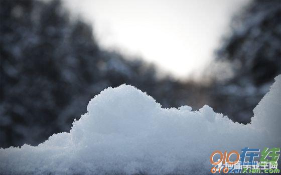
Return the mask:
<path id="1" fill-rule="evenodd" d="M 4 174 L 209 173 L 216 150 L 281 144 L 281 75 L 255 107 L 251 124 L 234 123 L 204 105 L 161 108 L 130 85 L 108 87 L 90 100 L 70 132 L 38 146 L 0 149 Z"/>

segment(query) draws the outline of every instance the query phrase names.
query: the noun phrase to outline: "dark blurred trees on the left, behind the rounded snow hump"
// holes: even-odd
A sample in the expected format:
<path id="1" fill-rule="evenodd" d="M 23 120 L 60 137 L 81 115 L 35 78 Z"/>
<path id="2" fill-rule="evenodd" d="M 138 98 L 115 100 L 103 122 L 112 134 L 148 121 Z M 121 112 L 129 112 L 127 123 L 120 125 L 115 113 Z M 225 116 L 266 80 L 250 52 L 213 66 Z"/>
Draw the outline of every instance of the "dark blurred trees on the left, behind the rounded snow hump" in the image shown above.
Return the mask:
<path id="1" fill-rule="evenodd" d="M 91 26 L 70 20 L 59 0 L 0 0 L 0 17 L 2 147 L 68 131 L 108 86 L 135 85 L 164 107 L 186 103 L 174 97 L 180 83 L 158 79 L 154 65 L 100 49 Z"/>

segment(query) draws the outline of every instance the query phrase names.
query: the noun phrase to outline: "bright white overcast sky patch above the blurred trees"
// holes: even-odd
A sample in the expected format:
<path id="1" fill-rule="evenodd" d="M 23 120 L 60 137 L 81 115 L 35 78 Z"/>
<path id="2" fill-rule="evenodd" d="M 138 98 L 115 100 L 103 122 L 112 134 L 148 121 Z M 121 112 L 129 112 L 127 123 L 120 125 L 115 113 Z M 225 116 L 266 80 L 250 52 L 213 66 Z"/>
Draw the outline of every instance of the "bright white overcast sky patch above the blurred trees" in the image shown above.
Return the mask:
<path id="1" fill-rule="evenodd" d="M 249 0 L 64 0 L 93 24 L 99 44 L 141 56 L 172 76 L 200 72 L 213 59 L 231 16 Z"/>

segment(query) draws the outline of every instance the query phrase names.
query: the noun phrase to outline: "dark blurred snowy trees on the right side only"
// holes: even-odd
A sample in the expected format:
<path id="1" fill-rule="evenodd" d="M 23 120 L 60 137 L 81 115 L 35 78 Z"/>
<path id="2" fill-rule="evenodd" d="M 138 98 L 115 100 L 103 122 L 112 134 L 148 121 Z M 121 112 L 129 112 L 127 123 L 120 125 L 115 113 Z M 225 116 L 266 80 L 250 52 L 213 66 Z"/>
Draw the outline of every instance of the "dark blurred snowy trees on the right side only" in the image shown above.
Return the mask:
<path id="1" fill-rule="evenodd" d="M 281 1 L 254 0 L 231 23 L 217 51 L 233 76 L 213 83 L 209 103 L 235 121 L 250 122 L 252 109 L 281 73 Z"/>

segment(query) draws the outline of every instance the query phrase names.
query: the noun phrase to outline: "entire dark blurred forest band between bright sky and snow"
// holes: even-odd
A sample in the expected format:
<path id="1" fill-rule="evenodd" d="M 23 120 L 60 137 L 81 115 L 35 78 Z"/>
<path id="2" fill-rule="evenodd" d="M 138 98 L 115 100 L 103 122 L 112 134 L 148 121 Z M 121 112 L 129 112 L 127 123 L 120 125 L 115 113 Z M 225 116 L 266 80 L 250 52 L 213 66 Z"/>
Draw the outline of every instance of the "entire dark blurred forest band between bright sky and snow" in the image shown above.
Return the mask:
<path id="1" fill-rule="evenodd" d="M 281 72 L 280 3 L 252 1 L 230 21 L 231 33 L 222 33 L 202 80 L 180 81 L 159 78 L 157 66 L 141 58 L 102 49 L 92 25 L 71 20 L 59 0 L 0 0 L 0 147 L 36 145 L 69 131 L 95 94 L 122 83 L 163 107 L 208 104 L 249 123 Z"/>

